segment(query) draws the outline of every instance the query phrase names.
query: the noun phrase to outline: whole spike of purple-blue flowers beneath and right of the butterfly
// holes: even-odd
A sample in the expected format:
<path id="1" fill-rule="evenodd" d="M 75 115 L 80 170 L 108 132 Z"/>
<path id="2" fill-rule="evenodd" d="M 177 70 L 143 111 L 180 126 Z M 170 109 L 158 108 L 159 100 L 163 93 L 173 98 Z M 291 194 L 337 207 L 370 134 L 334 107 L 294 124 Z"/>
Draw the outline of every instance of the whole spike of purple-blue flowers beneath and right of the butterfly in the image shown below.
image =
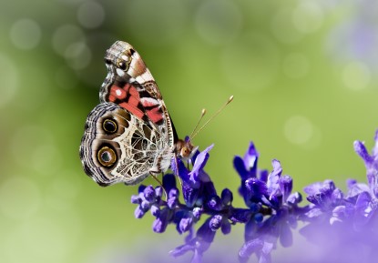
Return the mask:
<path id="1" fill-rule="evenodd" d="M 174 174 L 164 175 L 162 186 L 140 186 L 138 196 L 131 197 L 131 202 L 138 205 L 135 217 L 143 217 L 148 211 L 156 217 L 155 232 L 164 232 L 173 224 L 179 234 L 188 233 L 185 244 L 170 251 L 172 256 L 192 251 L 191 262 L 201 262 L 216 233 L 220 230 L 229 234 L 236 224 L 244 225 L 240 262 L 247 262 L 251 255 L 256 255 L 259 262 L 271 262 L 271 251 L 278 243 L 283 248 L 292 245 L 292 229 L 297 228 L 299 222 L 304 225 L 300 233 L 327 251 L 335 246 L 352 251 L 362 244 L 370 245 L 369 248 L 378 244 L 378 220 L 374 220 L 378 207 L 378 131 L 371 155 L 363 142 L 354 143 L 356 153 L 366 166 L 367 184 L 349 179 L 348 190 L 343 193 L 332 180 L 316 182 L 304 188 L 308 202 L 302 206 L 301 193 L 292 191 L 293 180 L 282 174 L 281 163 L 272 160 L 271 172 L 259 169 L 259 153 L 250 143 L 244 157 L 234 157 L 233 165 L 240 176 L 239 195 L 245 204 L 245 207 L 234 207 L 231 190 L 225 188 L 218 194 L 204 171 L 211 148 L 197 152 L 188 163 L 173 159 Z M 195 231 L 199 222 L 201 225 Z M 353 251 L 353 255 L 361 252 Z M 364 257 L 373 258 L 376 254 L 371 252 Z M 342 260 L 332 262 L 352 262 L 348 261 L 351 259 L 348 253 L 344 255 Z M 328 254 L 324 257 L 332 258 Z"/>

